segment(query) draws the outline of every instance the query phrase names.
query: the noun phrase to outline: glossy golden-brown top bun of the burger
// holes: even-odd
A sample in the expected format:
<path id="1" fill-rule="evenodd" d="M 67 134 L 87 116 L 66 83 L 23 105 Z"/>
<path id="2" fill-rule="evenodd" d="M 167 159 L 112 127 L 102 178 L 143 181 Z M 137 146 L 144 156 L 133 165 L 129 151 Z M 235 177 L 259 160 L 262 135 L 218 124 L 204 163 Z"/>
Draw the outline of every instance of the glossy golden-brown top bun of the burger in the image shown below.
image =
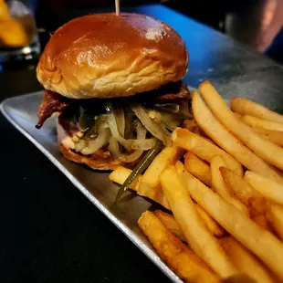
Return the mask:
<path id="1" fill-rule="evenodd" d="M 137 14 L 81 16 L 58 28 L 37 65 L 37 79 L 71 99 L 127 97 L 182 79 L 183 39 Z"/>

